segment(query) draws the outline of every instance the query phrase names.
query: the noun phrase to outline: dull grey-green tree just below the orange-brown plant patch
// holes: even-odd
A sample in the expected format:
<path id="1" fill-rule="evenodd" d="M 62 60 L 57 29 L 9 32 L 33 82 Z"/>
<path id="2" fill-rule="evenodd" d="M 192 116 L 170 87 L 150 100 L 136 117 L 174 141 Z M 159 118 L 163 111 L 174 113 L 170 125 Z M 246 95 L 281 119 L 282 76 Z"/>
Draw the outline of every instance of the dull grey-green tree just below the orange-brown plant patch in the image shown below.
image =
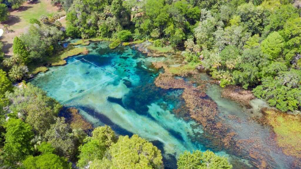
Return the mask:
<path id="1" fill-rule="evenodd" d="M 57 117 L 55 121 L 46 131 L 45 138 L 56 149 L 58 155 L 73 159 L 77 147 L 75 140 L 70 135 L 71 129 L 63 117 Z"/>

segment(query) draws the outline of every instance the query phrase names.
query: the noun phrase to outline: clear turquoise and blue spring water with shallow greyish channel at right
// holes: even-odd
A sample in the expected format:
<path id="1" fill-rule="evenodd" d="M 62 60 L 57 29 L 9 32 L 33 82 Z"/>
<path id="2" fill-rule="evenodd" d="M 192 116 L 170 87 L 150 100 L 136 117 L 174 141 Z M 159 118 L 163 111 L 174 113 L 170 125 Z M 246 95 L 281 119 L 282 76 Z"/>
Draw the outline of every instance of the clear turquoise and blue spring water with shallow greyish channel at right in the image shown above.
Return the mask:
<path id="1" fill-rule="evenodd" d="M 147 57 L 132 46 L 111 50 L 108 44 L 105 41 L 91 42 L 86 46 L 89 54 L 69 57 L 67 65 L 50 67 L 48 72 L 40 73 L 30 82 L 64 107 L 79 109 L 95 127 L 106 124 L 117 134 L 138 134 L 151 141 L 161 150 L 165 168 L 176 168 L 179 154 L 196 149 L 210 149 L 226 156 L 235 163 L 234 168 L 257 168 L 253 162 L 259 159 L 251 157 L 249 150 L 258 144 L 263 147 L 259 153 L 268 159 L 267 168 L 290 168 L 293 158 L 284 155 L 271 143 L 270 129 L 250 120 L 252 116 L 261 115 L 259 106 L 266 106 L 263 101 L 253 100 L 252 108 L 247 109 L 222 98 L 218 85 L 206 84 L 208 98 L 217 103 L 219 116 L 233 126 L 236 139 L 253 140 L 239 153 L 223 146 L 216 148 L 216 145 L 210 145 L 207 137 L 203 138 L 200 124 L 187 115 L 175 114 L 174 110 L 185 108 L 181 97 L 183 91 L 163 90 L 154 84 L 164 70 L 154 69 L 151 63 L 172 62 L 174 56 Z M 205 74 L 202 77 L 209 79 Z M 228 118 L 228 115 L 237 118 Z"/>

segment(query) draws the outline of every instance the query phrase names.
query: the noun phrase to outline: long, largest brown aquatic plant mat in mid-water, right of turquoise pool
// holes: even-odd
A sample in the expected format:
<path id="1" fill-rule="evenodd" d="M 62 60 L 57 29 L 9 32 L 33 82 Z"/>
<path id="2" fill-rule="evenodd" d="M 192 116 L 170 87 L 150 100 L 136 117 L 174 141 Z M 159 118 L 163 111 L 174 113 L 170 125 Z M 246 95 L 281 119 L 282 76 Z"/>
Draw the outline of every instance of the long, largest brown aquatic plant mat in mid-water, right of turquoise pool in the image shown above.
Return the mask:
<path id="1" fill-rule="evenodd" d="M 195 88 L 192 84 L 185 82 L 183 78 L 176 79 L 175 74 L 172 73 L 170 68 L 163 62 L 153 63 L 154 67 L 164 68 L 165 72 L 160 73 L 156 78 L 156 86 L 163 89 L 184 89 L 182 97 L 185 100 L 186 106 L 189 109 L 190 117 L 203 126 L 203 130 L 207 131 L 216 137 L 220 137 L 226 147 L 235 145 L 233 137 L 234 132 L 229 132 L 230 127 L 222 122 L 222 119 L 218 116 L 218 109 L 216 103 L 207 97 L 207 94 L 203 91 L 205 86 L 202 86 L 202 90 Z M 191 72 L 194 74 L 195 70 Z M 189 74 L 185 72 L 184 75 Z"/>

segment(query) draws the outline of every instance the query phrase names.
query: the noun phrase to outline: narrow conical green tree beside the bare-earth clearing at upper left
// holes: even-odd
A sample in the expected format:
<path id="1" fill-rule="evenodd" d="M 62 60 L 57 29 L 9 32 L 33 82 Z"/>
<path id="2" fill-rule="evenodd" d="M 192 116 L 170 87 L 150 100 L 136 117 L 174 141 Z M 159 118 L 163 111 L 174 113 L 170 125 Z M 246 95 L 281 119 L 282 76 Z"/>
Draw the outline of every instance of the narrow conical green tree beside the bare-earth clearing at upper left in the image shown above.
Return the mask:
<path id="1" fill-rule="evenodd" d="M 22 60 L 23 63 L 30 62 L 30 60 L 28 58 L 29 53 L 28 53 L 25 45 L 21 41 L 21 39 L 18 38 L 17 36 L 14 38 L 13 51 L 14 51 L 14 54 L 18 54 L 20 56 L 20 59 Z"/>

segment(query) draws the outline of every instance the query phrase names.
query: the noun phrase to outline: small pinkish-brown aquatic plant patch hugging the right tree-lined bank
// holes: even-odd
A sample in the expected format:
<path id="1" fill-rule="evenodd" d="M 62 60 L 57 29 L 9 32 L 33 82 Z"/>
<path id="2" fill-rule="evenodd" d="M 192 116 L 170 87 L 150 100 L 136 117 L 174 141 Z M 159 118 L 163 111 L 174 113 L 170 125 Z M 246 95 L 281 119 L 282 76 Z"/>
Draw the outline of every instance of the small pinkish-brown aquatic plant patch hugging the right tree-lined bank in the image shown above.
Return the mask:
<path id="1" fill-rule="evenodd" d="M 222 97 L 234 100 L 245 106 L 250 106 L 250 101 L 255 98 L 251 91 L 234 85 L 227 85 L 222 91 Z"/>

